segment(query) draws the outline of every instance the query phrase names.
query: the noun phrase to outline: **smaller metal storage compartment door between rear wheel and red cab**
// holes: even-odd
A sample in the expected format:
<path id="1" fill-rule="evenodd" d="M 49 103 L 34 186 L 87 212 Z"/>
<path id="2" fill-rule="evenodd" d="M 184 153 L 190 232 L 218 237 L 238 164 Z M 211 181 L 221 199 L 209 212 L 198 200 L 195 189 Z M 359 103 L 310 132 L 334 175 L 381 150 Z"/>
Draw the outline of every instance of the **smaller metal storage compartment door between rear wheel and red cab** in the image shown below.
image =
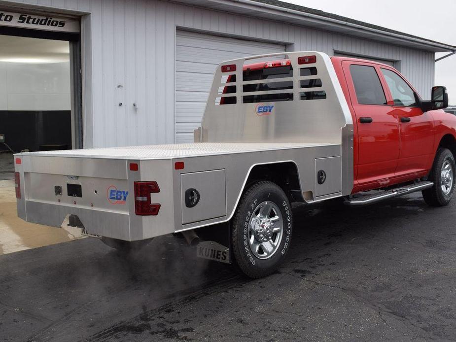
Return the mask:
<path id="1" fill-rule="evenodd" d="M 317 158 L 315 160 L 316 197 L 342 192 L 341 157 Z"/>

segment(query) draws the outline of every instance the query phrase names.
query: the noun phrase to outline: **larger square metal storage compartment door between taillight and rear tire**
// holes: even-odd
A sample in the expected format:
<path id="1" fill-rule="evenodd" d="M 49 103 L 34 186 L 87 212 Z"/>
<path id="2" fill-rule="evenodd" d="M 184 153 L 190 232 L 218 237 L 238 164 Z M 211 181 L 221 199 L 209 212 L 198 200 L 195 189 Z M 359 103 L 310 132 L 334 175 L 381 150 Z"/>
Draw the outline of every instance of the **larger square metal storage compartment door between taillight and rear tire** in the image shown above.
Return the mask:
<path id="1" fill-rule="evenodd" d="M 226 215 L 225 170 L 180 175 L 182 224 Z"/>

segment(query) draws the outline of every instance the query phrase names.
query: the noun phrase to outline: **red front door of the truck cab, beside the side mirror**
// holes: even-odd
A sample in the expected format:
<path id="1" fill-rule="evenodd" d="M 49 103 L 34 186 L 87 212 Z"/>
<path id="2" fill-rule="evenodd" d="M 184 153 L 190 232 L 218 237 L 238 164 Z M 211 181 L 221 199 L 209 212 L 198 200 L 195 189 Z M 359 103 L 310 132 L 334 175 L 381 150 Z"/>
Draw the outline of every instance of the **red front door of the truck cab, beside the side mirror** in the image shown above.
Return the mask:
<path id="1" fill-rule="evenodd" d="M 398 117 L 401 145 L 396 176 L 427 172 L 434 159 L 434 124 L 414 89 L 392 68 L 381 67 L 388 105 Z"/>

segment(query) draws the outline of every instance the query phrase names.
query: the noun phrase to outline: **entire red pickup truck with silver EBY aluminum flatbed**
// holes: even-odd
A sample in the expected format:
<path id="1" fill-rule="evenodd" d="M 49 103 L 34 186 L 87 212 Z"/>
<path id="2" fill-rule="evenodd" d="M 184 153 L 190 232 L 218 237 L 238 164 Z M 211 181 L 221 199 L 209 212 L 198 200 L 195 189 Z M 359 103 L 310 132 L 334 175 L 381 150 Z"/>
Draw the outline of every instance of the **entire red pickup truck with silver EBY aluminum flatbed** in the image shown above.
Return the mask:
<path id="1" fill-rule="evenodd" d="M 421 100 L 390 66 L 316 51 L 227 61 L 195 143 L 16 154 L 18 215 L 129 249 L 182 233 L 250 277 L 279 267 L 292 202 L 367 205 L 455 189 L 445 87 Z M 376 190 L 369 191 L 366 190 Z"/>

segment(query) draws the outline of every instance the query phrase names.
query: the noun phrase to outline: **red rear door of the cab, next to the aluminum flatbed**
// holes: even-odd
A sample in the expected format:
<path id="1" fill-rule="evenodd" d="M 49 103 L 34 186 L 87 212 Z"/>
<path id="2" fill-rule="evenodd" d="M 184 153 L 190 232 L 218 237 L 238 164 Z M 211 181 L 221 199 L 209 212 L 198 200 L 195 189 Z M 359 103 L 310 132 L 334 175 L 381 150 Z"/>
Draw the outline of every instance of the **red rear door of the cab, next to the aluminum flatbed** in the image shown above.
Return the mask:
<path id="1" fill-rule="evenodd" d="M 399 158 L 397 113 L 386 103 L 377 66 L 344 61 L 342 68 L 356 118 L 358 163 L 355 179 L 361 188 L 363 185 L 364 188 L 387 185 L 389 178 L 394 177 Z"/>

